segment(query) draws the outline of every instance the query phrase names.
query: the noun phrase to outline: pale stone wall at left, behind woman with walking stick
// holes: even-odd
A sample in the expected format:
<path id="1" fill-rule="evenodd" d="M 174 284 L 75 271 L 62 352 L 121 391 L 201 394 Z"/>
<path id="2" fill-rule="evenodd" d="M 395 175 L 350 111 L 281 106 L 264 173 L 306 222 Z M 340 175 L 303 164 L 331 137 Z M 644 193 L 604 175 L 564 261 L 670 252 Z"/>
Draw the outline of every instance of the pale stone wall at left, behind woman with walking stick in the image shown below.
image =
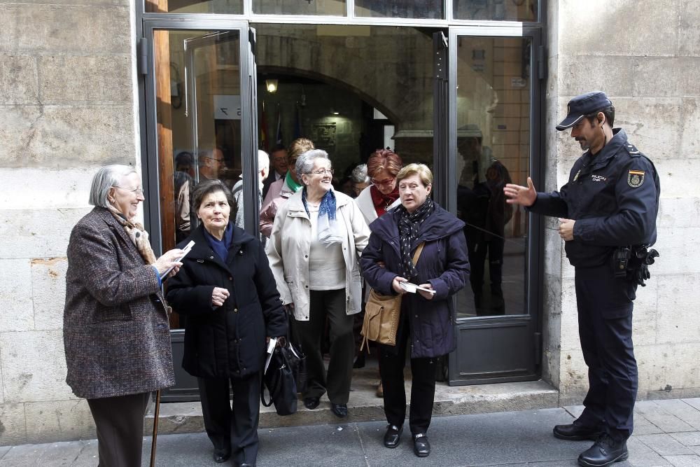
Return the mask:
<path id="1" fill-rule="evenodd" d="M 128 0 L 0 3 L 0 445 L 94 436 L 65 383 L 66 245 L 94 170 L 139 161 Z"/>

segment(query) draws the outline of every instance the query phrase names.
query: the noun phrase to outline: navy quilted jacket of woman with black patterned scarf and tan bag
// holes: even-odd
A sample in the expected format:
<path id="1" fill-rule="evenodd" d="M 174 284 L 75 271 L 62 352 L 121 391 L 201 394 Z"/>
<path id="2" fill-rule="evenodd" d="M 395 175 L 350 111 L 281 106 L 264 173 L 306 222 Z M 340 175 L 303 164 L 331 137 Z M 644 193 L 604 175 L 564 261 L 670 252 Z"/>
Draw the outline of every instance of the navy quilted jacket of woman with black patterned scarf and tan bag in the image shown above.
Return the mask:
<path id="1" fill-rule="evenodd" d="M 400 275 L 398 220 L 400 209 L 388 211 L 370 224 L 370 242 L 360 258 L 363 277 L 384 295 L 395 294 L 393 278 Z M 449 354 L 456 347 L 455 313 L 452 295 L 466 283 L 469 275 L 464 223 L 435 204 L 435 211 L 421 225 L 412 252 L 426 242 L 416 263 L 416 284 L 430 283 L 435 289 L 432 300 L 418 293 L 404 295 L 401 312 L 409 313 L 411 358 Z M 384 261 L 385 267 L 377 265 Z"/>

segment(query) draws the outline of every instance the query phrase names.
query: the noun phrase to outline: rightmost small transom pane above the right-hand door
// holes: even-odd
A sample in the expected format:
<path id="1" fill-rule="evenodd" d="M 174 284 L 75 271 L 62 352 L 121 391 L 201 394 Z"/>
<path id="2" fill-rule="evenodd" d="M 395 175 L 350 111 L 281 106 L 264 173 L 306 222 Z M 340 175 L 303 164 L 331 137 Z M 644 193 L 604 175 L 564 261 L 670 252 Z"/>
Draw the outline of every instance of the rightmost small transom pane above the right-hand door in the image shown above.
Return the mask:
<path id="1" fill-rule="evenodd" d="M 537 21 L 538 0 L 454 0 L 456 20 Z"/>

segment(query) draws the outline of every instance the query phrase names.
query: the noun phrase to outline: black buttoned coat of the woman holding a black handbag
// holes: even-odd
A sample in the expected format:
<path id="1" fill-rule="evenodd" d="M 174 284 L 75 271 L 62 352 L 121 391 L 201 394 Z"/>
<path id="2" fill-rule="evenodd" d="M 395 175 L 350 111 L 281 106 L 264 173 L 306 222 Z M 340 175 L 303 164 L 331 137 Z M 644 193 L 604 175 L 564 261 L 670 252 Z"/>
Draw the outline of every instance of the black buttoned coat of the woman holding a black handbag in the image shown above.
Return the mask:
<path id="1" fill-rule="evenodd" d="M 233 226 L 222 260 L 204 237 L 204 225 L 179 246 L 195 241 L 178 274 L 168 279 L 168 301 L 186 316 L 182 366 L 197 377 L 244 377 L 262 369 L 265 337 L 287 334 L 267 256 L 258 239 Z M 227 288 L 221 307 L 211 304 L 214 287 Z"/>

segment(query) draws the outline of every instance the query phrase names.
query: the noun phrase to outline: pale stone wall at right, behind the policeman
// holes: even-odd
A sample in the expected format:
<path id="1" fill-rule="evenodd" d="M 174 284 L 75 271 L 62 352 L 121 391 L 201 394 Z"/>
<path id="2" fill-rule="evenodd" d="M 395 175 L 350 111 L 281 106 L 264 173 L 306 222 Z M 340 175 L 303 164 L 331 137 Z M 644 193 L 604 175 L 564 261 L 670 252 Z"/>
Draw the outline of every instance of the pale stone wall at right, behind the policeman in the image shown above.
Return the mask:
<path id="1" fill-rule="evenodd" d="M 566 183 L 580 155 L 569 132 L 554 125 L 566 103 L 605 90 L 615 126 L 654 161 L 661 177 L 656 248 L 661 258 L 639 288 L 633 315 L 639 365 L 638 398 L 700 395 L 700 4 L 693 0 L 561 0 L 548 2 L 547 176 L 544 187 Z M 554 219 L 545 249 L 545 374 L 562 405 L 587 390 L 577 330 L 573 267 L 563 254 Z"/>

